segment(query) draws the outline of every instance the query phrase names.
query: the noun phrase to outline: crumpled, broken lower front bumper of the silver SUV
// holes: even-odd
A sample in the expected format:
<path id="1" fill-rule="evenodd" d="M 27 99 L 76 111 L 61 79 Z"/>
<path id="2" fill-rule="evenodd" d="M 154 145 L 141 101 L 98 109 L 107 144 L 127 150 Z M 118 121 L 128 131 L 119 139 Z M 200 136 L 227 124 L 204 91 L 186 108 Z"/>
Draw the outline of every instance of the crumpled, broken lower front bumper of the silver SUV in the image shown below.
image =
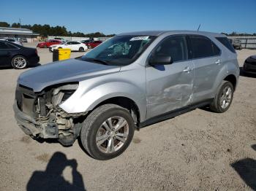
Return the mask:
<path id="1" fill-rule="evenodd" d="M 15 112 L 15 120 L 18 126 L 23 130 L 26 135 L 41 137 L 44 139 L 48 138 L 59 138 L 58 127 L 56 125 L 49 125 L 47 123 L 42 124 L 37 122 L 34 118 L 30 117 L 28 114 L 20 111 L 15 100 L 13 105 L 13 110 Z"/>

